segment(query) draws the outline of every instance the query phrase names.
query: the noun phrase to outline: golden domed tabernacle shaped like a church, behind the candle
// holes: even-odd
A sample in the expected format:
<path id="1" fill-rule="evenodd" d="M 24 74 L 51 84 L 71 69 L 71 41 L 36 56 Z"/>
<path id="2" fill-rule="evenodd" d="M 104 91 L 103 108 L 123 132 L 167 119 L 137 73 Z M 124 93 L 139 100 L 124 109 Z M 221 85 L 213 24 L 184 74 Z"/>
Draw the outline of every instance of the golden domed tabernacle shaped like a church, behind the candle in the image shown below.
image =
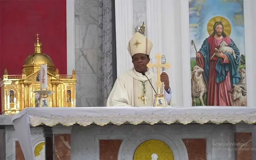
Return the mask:
<path id="1" fill-rule="evenodd" d="M 1 77 L 2 114 L 17 114 L 26 107 L 39 107 L 40 66 L 47 65 L 47 87 L 54 91 L 49 96 L 50 106 L 76 107 L 76 71 L 72 75 L 60 75 L 52 59 L 42 53 L 42 43 L 38 34 L 35 52 L 29 55 L 21 70 L 21 75 L 8 75 L 7 69 Z"/>

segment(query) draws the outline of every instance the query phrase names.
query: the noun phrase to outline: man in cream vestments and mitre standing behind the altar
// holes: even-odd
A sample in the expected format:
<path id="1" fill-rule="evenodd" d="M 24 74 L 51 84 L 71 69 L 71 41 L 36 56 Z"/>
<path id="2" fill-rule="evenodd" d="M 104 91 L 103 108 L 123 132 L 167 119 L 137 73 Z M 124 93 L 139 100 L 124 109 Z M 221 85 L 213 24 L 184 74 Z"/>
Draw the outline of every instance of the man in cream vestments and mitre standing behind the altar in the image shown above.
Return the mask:
<path id="1" fill-rule="evenodd" d="M 132 36 L 128 43 L 128 52 L 132 58 L 133 68 L 116 79 L 107 100 L 108 107 L 154 106 L 159 77 L 147 67 L 152 46 L 150 40 L 139 32 Z M 172 89 L 167 73 L 161 73 L 160 81 L 164 83 L 166 104 L 172 106 Z"/>

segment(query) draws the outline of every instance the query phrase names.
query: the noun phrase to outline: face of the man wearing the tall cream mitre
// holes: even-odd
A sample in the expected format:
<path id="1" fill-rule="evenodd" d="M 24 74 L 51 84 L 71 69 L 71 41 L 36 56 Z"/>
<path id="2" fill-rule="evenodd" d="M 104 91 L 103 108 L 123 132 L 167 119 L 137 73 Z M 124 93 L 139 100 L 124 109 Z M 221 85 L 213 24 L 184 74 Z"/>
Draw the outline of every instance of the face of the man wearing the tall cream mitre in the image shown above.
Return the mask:
<path id="1" fill-rule="evenodd" d="M 145 73 L 148 70 L 147 64 L 149 62 L 149 57 L 143 53 L 137 53 L 132 56 L 132 63 L 134 69 L 137 72 Z"/>

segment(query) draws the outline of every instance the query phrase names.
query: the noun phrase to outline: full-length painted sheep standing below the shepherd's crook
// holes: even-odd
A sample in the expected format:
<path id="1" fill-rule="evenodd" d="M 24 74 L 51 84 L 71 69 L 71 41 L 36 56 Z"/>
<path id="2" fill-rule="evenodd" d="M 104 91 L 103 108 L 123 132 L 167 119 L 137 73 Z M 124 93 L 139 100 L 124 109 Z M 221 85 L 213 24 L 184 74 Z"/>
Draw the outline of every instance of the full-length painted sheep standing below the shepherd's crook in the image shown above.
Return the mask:
<path id="1" fill-rule="evenodd" d="M 193 100 L 192 106 L 196 106 L 196 98 L 199 98 L 201 105 L 205 106 L 204 96 L 208 92 L 208 89 L 204 82 L 203 72 L 204 69 L 197 65 L 193 67 L 193 71 L 191 72 L 191 95 Z"/>

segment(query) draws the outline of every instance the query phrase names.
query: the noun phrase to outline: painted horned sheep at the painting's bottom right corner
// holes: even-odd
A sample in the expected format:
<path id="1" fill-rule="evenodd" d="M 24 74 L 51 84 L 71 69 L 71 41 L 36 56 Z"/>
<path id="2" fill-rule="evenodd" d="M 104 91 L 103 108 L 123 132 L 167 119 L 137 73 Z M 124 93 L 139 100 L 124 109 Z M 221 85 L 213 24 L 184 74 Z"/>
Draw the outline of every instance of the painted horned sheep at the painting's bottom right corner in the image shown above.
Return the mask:
<path id="1" fill-rule="evenodd" d="M 233 106 L 247 106 L 247 95 L 243 85 L 233 85 L 232 91 Z"/>

